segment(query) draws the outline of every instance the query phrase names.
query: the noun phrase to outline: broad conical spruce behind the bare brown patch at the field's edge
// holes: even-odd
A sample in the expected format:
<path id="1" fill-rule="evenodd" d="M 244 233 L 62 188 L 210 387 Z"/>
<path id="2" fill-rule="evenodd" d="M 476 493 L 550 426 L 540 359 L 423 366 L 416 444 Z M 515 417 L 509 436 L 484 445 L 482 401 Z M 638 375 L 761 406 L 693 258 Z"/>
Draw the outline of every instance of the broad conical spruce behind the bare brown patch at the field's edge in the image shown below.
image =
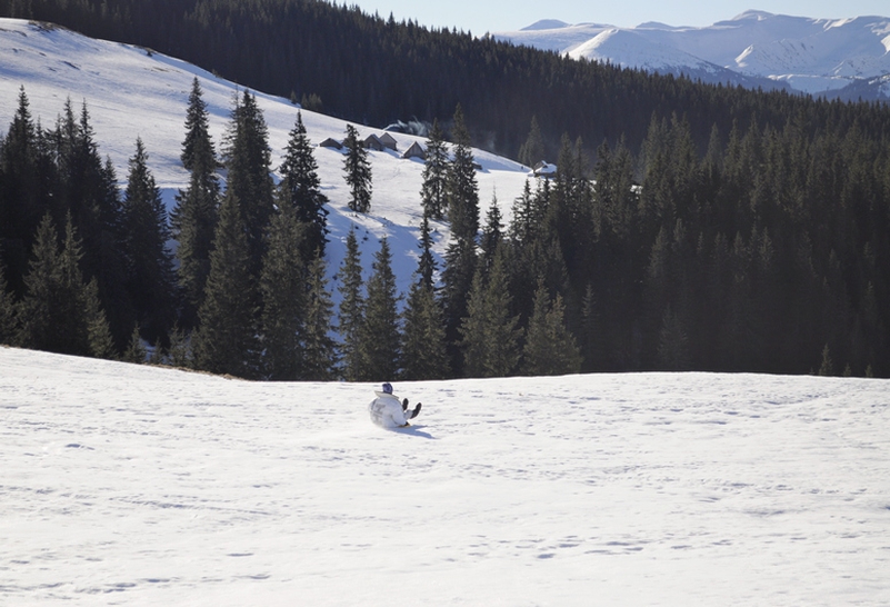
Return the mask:
<path id="1" fill-rule="evenodd" d="M 254 378 L 258 375 L 257 287 L 249 271 L 250 248 L 240 202 L 229 190 L 220 207 L 210 253 L 200 326 L 192 334 L 198 369 Z"/>

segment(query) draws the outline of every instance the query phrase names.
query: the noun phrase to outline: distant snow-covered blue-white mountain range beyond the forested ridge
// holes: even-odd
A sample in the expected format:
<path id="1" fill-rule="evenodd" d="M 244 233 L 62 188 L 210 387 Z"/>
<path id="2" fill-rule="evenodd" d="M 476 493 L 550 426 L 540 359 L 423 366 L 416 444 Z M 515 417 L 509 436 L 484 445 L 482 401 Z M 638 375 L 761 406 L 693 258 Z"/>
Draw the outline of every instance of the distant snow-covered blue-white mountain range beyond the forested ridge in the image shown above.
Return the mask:
<path id="1" fill-rule="evenodd" d="M 536 23 L 497 38 L 706 82 L 890 98 L 890 19 L 810 19 L 747 11 L 707 28 Z"/>

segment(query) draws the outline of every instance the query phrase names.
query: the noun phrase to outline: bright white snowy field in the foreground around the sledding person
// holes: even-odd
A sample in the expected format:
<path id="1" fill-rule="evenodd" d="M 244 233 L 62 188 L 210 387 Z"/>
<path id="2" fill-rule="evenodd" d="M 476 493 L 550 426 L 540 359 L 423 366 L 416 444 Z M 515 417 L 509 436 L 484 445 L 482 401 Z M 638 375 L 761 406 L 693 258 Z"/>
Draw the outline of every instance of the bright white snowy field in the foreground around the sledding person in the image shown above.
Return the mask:
<path id="1" fill-rule="evenodd" d="M 888 380 L 372 389 L 0 348 L 0 604 L 890 604 Z"/>

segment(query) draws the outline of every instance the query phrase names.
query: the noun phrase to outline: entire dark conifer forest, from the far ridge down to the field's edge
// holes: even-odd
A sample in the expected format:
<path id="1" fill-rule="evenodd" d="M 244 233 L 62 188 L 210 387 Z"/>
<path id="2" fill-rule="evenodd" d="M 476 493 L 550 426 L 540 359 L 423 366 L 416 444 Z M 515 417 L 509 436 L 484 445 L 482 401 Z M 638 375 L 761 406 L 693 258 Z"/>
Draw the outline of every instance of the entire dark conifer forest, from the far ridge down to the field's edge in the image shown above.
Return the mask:
<path id="1" fill-rule="evenodd" d="M 219 191 L 211 143 L 194 148 L 201 161 L 183 152 L 192 182 L 172 235 L 192 257 L 179 259 L 178 279 L 158 247 L 170 226 L 146 170 L 151 150 L 134 142 L 128 189 L 117 192 L 88 108 L 78 116 L 69 103 L 44 131 L 22 92 L 0 141 L 6 342 L 118 356 L 137 327 L 171 359 L 270 379 L 890 376 L 886 106 L 703 86 L 313 0 L 0 0 L 0 14 L 150 47 L 353 122 L 438 122 L 428 149 L 446 138 L 454 150 L 450 161 L 428 157 L 418 192 L 427 216 L 452 222 L 440 283 L 428 233 L 411 293 L 392 292 L 386 241 L 367 286 L 360 272 L 348 280 L 360 262 L 352 251 L 334 318 L 312 159 L 294 158 L 309 169 L 286 180 L 290 193 L 273 191 L 264 123 L 247 92 L 219 158 L 241 189 Z M 183 149 L 203 137 L 200 125 L 197 90 Z M 298 125 L 293 153 L 299 137 Z M 503 226 L 497 213 L 479 217 L 471 145 L 542 156 L 559 170 L 501 201 L 513 210 Z M 316 193 L 300 206 L 297 191 Z M 259 206 L 248 212 L 246 199 Z M 146 289 L 150 307 L 138 296 Z M 61 292 L 53 297 L 77 308 L 64 322 L 86 328 L 44 346 L 44 291 Z M 326 338 L 331 325 L 342 344 Z M 393 326 L 401 335 L 386 351 L 369 349 L 369 327 Z"/>

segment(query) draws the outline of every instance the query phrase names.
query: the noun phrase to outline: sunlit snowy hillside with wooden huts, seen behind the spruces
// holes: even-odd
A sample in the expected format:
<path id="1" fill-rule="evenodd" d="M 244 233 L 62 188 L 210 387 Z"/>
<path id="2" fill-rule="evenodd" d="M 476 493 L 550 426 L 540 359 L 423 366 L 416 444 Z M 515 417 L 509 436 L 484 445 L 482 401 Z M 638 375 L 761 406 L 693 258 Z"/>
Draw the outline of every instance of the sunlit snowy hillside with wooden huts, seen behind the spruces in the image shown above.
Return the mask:
<path id="1" fill-rule="evenodd" d="M 178 59 L 21 20 L 0 19 L 0 131 L 9 128 L 18 107 L 20 87 L 24 87 L 32 116 L 44 127 L 54 125 L 66 99 L 71 99 L 78 115 L 86 101 L 100 152 L 111 158 L 122 182 L 127 179 L 127 162 L 136 150 L 136 139 L 142 138 L 149 153 L 149 168 L 168 208 L 172 208 L 176 192 L 188 185 L 179 155 L 192 79 L 197 76 L 203 88 L 218 149 L 237 90 L 233 83 Z M 257 100 L 269 127 L 272 162 L 277 169 L 298 108 L 286 99 L 261 92 L 257 92 Z M 343 139 L 346 122 L 342 120 L 310 111 L 302 115 L 313 143 L 329 137 Z M 382 133 L 382 128 L 358 128 L 362 138 Z M 379 239 L 389 238 L 398 286 L 407 292 L 417 268 L 423 163 L 403 160 L 400 155 L 412 141 L 422 143 L 423 139 L 391 135 L 398 141 L 398 152 L 369 153 L 373 198 L 368 215 L 352 213 L 347 207 L 349 190 L 343 180 L 342 155 L 317 148 L 316 159 L 324 193 L 331 200 L 329 273 L 336 273 L 344 253 L 343 240 L 354 225 L 360 229 L 362 262 L 369 271 Z M 501 211 L 509 218 L 513 199 L 522 192 L 528 169 L 481 150 L 474 153 L 482 167 L 477 173 L 482 217 L 497 193 Z M 436 230 L 434 250 L 441 253 L 448 245 L 449 226 L 433 222 L 432 228 Z M 333 295 L 337 298 L 336 289 Z"/>

